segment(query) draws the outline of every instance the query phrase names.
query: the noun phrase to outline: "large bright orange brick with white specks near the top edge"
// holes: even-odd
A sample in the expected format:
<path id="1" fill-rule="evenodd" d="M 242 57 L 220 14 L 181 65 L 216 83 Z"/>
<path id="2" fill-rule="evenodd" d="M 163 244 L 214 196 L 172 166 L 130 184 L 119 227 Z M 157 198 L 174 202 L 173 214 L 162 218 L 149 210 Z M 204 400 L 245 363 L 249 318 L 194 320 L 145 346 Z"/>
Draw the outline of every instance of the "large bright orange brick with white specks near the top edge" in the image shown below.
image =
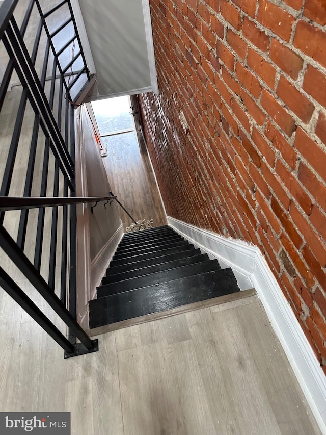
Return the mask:
<path id="1" fill-rule="evenodd" d="M 294 17 L 273 3 L 260 0 L 257 19 L 285 41 L 290 40 Z"/>

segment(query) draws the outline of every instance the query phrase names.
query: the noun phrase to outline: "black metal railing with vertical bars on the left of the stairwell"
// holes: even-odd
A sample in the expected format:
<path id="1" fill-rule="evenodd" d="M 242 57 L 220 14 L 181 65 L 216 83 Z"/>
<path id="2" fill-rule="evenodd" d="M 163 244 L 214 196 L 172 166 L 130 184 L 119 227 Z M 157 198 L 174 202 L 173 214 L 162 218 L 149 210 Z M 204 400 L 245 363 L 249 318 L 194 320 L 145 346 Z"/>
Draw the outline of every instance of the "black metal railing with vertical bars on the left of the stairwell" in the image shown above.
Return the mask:
<path id="1" fill-rule="evenodd" d="M 90 75 L 70 0 L 53 0 L 48 10 L 40 0 L 4 0 L 0 59 L 0 196 L 56 197 L 50 208 L 39 200 L 38 210 L 1 209 L 0 247 L 68 326 L 68 339 L 5 267 L 0 285 L 51 331 L 66 356 L 94 351 L 97 344 L 76 322 L 74 101 Z M 69 205 L 59 207 L 59 197 Z"/>

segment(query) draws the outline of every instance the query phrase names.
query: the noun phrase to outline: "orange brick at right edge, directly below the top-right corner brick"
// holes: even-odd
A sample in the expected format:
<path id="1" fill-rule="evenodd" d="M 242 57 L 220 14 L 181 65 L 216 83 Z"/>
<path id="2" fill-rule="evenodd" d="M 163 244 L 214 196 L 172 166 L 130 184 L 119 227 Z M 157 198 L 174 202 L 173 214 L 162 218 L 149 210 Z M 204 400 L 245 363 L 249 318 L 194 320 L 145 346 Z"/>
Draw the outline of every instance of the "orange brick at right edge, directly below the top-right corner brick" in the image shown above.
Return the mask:
<path id="1" fill-rule="evenodd" d="M 299 21 L 293 45 L 320 65 L 326 66 L 326 33 L 322 30 L 305 21 Z"/>

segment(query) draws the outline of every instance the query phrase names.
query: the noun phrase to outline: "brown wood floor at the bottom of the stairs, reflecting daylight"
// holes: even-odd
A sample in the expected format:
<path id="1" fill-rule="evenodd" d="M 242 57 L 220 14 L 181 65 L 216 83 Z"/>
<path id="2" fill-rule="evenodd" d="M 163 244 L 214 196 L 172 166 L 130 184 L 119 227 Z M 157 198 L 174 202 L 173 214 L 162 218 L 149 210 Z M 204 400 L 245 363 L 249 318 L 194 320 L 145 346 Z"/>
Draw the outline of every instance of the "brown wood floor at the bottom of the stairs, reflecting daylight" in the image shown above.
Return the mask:
<path id="1" fill-rule="evenodd" d="M 140 153 L 133 132 L 112 136 L 103 158 L 113 193 L 136 220 L 153 219 L 153 226 L 166 225 L 155 177 L 147 153 Z M 124 228 L 132 221 L 120 209 Z"/>

